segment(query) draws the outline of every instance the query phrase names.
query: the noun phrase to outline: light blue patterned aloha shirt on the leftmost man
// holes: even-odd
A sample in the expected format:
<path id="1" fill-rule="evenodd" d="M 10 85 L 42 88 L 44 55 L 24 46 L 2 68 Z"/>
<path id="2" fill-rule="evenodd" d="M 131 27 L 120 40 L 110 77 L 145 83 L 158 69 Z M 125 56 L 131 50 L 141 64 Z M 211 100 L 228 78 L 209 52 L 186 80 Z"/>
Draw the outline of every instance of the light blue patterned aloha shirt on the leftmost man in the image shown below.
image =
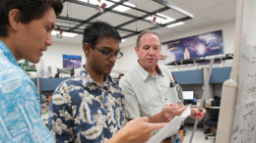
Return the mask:
<path id="1" fill-rule="evenodd" d="M 32 80 L 0 40 L 0 143 L 54 142 L 39 105 Z"/>

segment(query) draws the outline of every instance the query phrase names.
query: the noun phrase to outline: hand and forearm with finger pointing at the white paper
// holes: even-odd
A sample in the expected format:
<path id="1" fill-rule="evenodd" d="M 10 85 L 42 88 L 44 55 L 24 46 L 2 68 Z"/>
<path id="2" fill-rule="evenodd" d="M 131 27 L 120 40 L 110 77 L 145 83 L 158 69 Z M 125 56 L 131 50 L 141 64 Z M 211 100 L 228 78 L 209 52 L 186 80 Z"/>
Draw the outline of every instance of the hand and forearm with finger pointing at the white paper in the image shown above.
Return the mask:
<path id="1" fill-rule="evenodd" d="M 111 139 L 105 143 L 144 143 L 150 139 L 153 131 L 160 129 L 166 123 L 150 123 L 149 118 L 132 119 Z"/>

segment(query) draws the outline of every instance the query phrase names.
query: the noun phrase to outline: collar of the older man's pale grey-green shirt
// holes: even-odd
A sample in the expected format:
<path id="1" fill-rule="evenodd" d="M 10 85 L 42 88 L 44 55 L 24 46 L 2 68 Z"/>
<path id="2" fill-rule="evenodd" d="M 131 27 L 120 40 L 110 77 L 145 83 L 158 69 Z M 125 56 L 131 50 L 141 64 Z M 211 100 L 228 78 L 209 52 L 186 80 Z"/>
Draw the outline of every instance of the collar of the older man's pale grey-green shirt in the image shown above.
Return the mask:
<path id="1" fill-rule="evenodd" d="M 148 71 L 144 70 L 144 69 L 141 67 L 141 65 L 139 64 L 139 61 L 136 63 L 135 69 L 139 72 L 140 76 L 142 77 L 142 80 L 144 80 L 144 81 L 145 81 L 149 76 L 151 76 L 151 74 L 150 74 Z M 160 75 L 163 76 L 162 71 L 160 70 L 159 65 L 156 66 L 156 71 L 157 71 L 157 74 L 160 74 Z"/>

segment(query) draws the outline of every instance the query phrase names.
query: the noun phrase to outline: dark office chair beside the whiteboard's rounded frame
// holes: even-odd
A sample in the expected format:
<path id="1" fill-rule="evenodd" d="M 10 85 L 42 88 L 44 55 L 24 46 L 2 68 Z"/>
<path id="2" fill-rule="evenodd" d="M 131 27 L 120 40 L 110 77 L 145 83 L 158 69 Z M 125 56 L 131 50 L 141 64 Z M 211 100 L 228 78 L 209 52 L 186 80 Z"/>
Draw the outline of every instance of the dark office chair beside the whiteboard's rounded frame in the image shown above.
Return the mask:
<path id="1" fill-rule="evenodd" d="M 221 99 L 212 101 L 212 106 L 220 106 Z M 219 119 L 219 112 L 220 109 L 208 109 L 208 113 L 210 116 L 210 119 L 205 120 L 205 125 L 208 125 L 210 127 L 214 127 L 215 131 L 212 133 L 205 134 L 205 138 L 208 139 L 209 136 L 216 136 L 216 130 L 218 125 L 218 119 Z"/>

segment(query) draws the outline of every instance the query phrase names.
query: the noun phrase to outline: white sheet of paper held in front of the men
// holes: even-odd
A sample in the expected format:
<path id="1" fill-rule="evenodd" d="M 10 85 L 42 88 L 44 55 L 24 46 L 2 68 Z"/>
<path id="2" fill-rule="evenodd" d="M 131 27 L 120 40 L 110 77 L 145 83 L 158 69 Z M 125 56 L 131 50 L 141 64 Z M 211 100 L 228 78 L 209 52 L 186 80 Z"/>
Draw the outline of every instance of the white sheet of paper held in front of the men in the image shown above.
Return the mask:
<path id="1" fill-rule="evenodd" d="M 182 121 L 186 119 L 188 116 L 190 116 L 190 114 L 191 114 L 191 111 L 190 111 L 190 107 L 188 106 L 187 109 L 180 116 L 176 116 L 174 119 L 171 119 L 147 143 L 160 143 L 167 136 L 177 133 Z"/>

